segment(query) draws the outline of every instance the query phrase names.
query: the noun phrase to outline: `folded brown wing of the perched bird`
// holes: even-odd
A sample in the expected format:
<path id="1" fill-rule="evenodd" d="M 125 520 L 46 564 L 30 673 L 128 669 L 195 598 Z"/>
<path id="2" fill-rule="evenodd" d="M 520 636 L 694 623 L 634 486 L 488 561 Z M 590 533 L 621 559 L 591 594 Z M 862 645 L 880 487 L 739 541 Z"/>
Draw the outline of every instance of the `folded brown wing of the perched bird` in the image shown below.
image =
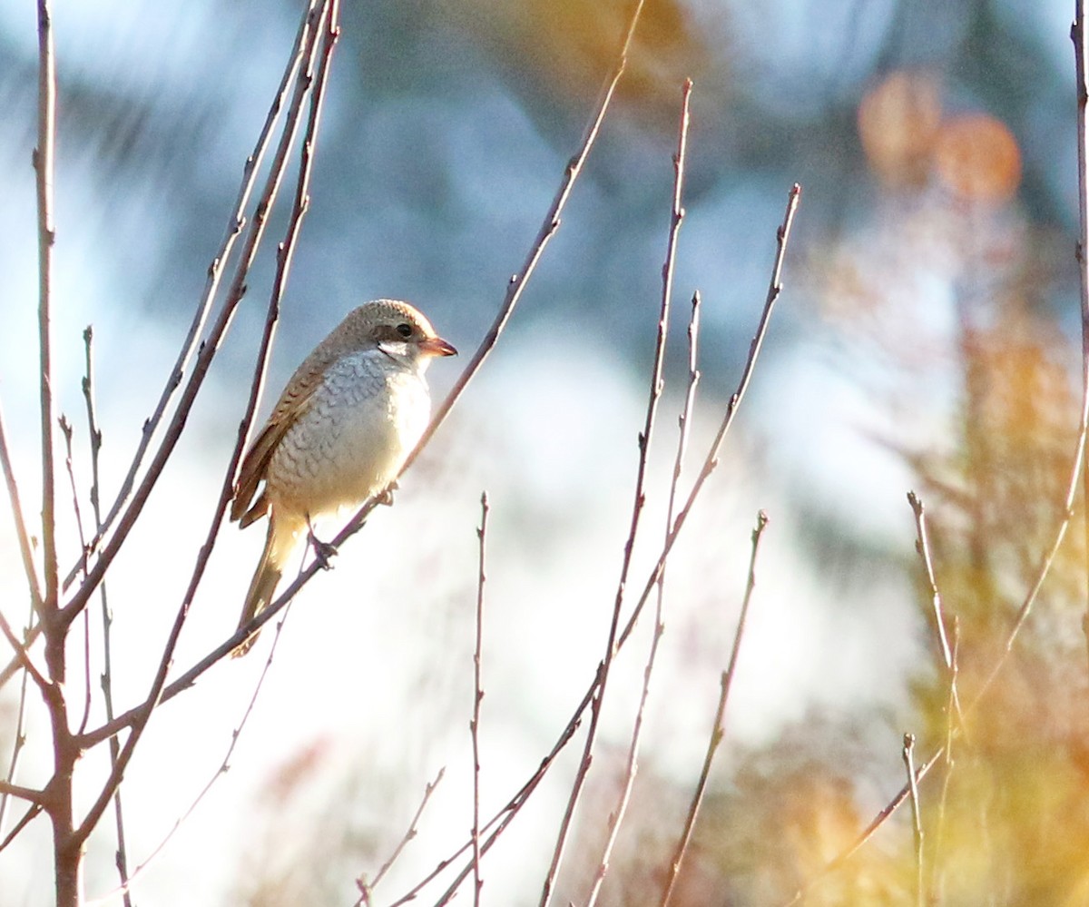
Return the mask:
<path id="1" fill-rule="evenodd" d="M 242 520 L 243 527 L 260 519 L 268 510 L 268 498 L 264 493 L 257 495 L 257 486 L 265 479 L 280 442 L 295 420 L 306 412 L 314 391 L 321 387 L 326 370 L 337 358 L 333 352 L 319 347 L 295 370 L 261 433 L 249 445 L 238 468 L 238 481 L 234 485 L 234 500 L 231 503 L 231 519 Z M 254 500 L 255 496 L 257 500 Z M 253 507 L 250 501 L 254 501 Z"/>

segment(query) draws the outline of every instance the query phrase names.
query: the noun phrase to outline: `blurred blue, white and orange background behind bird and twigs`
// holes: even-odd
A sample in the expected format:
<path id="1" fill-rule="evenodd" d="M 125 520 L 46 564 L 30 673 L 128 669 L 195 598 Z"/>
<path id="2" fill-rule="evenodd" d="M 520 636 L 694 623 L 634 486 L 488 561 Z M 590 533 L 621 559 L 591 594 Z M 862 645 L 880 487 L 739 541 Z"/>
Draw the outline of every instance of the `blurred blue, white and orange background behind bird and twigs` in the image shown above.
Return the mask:
<path id="1" fill-rule="evenodd" d="M 378 297 L 415 302 L 462 350 L 430 372 L 436 396 L 450 387 L 521 268 L 628 13 L 612 0 L 344 5 L 271 397 L 347 309 Z M 94 325 L 109 498 L 199 299 L 299 14 L 279 0 L 54 9 L 56 394 L 76 424 L 84 493 L 83 329 Z M 692 293 L 703 300 L 701 377 L 683 488 L 748 352 L 794 182 L 803 201 L 751 394 L 671 559 L 640 771 L 603 903 L 657 903 L 760 508 L 771 521 L 726 739 L 673 903 L 783 903 L 849 843 L 903 783 L 904 731 L 929 753 L 950 726 L 906 492 L 927 506 L 966 704 L 1061 517 L 1080 397 L 1072 15 L 1065 0 L 648 0 L 616 102 L 509 330 L 396 506 L 299 595 L 230 773 L 148 868 L 137 900 L 352 903 L 354 879 L 374 876 L 443 766 L 376 903 L 467 839 L 485 489 L 486 814 L 559 736 L 603 655 L 615 594 L 685 77 L 686 218 L 632 589 L 664 531 Z M 0 401 L 27 513 L 39 494 L 35 25 L 33 4 L 0 0 Z M 122 705 L 150 680 L 207 531 L 272 252 L 111 572 Z M 955 769 L 923 787 L 934 903 L 1089 897 L 1081 536 L 1076 527 L 1002 679 L 965 717 Z M 23 621 L 10 519 L 0 540 L 0 602 Z M 72 525 L 65 541 L 74 558 Z M 224 528 L 180 667 L 233 631 L 261 541 Z M 585 899 L 615 807 L 649 617 L 610 684 L 558 904 Z M 270 636 L 152 719 L 124 788 L 130 864 L 221 765 Z M 0 692 L 3 753 L 16 692 Z M 21 779 L 44 783 L 44 714 L 27 734 Z M 103 760 L 88 755 L 88 778 Z M 489 852 L 484 903 L 537 903 L 576 761 L 572 748 Z M 115 884 L 113 847 L 103 821 L 90 896 Z M 0 852 L 4 904 L 48 903 L 49 854 L 44 820 Z M 914 903 L 914 866 L 897 817 L 807 903 Z"/>

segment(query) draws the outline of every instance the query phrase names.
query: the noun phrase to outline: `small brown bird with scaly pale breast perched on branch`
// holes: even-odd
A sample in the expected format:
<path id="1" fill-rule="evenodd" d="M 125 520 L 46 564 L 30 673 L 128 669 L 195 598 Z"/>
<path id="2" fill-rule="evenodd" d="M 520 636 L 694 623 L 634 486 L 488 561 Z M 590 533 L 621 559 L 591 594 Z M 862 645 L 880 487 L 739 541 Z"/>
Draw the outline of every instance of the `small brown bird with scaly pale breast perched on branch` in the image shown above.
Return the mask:
<path id="1" fill-rule="evenodd" d="M 328 556 L 314 518 L 358 508 L 393 485 L 430 419 L 424 373 L 432 359 L 456 354 L 412 304 L 379 299 L 353 309 L 295 370 L 234 486 L 232 521 L 245 529 L 269 518 L 238 629 L 272 602 L 307 540 Z M 256 639 L 252 633 L 232 655 Z"/>

